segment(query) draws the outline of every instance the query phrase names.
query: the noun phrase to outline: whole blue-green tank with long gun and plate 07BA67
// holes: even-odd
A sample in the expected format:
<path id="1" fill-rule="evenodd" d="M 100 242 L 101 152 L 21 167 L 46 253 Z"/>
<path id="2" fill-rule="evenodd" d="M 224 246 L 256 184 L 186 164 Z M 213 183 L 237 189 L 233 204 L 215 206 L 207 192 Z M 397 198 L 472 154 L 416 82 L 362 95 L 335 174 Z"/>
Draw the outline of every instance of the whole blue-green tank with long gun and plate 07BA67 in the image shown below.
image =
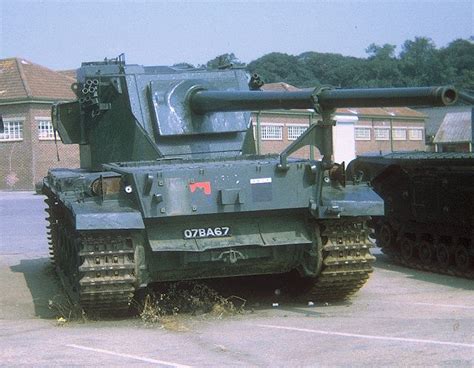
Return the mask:
<path id="1" fill-rule="evenodd" d="M 74 102 L 52 109 L 78 169 L 51 169 L 51 260 L 87 313 L 117 313 L 154 282 L 298 275 L 294 290 L 343 299 L 372 272 L 371 188 L 346 183 L 332 161 L 337 107 L 446 104 L 449 87 L 260 91 L 242 69 L 83 63 Z M 256 155 L 250 112 L 322 116 L 279 155 Z M 323 159 L 293 159 L 313 145 Z"/>

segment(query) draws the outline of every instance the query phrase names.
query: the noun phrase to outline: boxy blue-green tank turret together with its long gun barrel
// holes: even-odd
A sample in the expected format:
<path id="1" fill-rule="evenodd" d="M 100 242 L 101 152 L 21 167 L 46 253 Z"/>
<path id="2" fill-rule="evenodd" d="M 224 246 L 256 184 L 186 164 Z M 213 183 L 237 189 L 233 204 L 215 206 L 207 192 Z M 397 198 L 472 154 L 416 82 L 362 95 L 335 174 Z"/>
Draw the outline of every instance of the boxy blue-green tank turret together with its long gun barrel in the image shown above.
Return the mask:
<path id="1" fill-rule="evenodd" d="M 250 111 L 313 109 L 329 116 L 338 107 L 442 105 L 457 98 L 449 87 L 249 90 L 255 79 L 249 82 L 242 69 L 84 63 L 73 85 L 78 100 L 56 105 L 53 124 L 63 143 L 81 145 L 81 167 L 100 170 L 117 161 L 254 153 Z"/>

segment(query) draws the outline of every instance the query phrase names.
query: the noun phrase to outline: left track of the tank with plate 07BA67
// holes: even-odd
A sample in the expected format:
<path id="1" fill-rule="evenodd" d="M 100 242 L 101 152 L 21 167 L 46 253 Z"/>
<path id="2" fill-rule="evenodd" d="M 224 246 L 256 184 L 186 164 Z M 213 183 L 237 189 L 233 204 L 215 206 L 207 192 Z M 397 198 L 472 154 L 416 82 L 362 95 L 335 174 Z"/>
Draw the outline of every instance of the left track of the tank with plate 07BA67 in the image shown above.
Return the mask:
<path id="1" fill-rule="evenodd" d="M 127 312 L 136 284 L 131 234 L 78 232 L 53 195 L 46 203 L 51 260 L 73 303 L 89 315 Z"/>

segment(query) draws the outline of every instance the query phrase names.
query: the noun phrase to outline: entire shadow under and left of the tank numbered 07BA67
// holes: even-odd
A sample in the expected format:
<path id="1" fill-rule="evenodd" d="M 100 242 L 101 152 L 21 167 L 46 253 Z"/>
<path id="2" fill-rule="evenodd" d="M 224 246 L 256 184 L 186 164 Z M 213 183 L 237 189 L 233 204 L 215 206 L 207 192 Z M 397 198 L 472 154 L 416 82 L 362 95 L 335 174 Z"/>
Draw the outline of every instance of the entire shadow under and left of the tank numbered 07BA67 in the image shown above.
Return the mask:
<path id="1" fill-rule="evenodd" d="M 23 274 L 31 293 L 34 313 L 37 317 L 43 319 L 55 319 L 57 317 L 64 317 L 67 320 L 74 319 L 74 316 L 71 315 L 71 313 L 75 313 L 74 307 L 66 297 L 48 258 L 23 259 L 18 265 L 11 266 L 10 269 L 13 272 Z M 350 304 L 347 301 L 324 303 L 318 300 L 310 300 L 302 295 L 296 295 L 292 292 L 292 287 L 289 286 L 290 284 L 294 285 L 294 280 L 289 274 L 230 277 L 197 282 L 207 285 L 224 298 L 230 298 L 236 303 L 236 307 L 243 301 L 243 307 L 247 311 L 278 307 L 278 309 L 288 312 L 321 316 L 321 312 L 308 310 L 308 302 L 311 302 L 311 306 L 318 308 Z M 167 284 L 153 284 L 150 287 L 155 291 L 159 291 Z M 237 298 L 232 299 L 232 296 Z M 142 295 L 136 295 L 135 301 L 138 304 L 142 303 L 142 297 Z M 102 315 L 100 319 L 117 319 L 119 317 L 123 319 L 133 317 L 136 313 L 136 308 L 131 308 L 130 313 L 127 313 L 126 316 Z"/>

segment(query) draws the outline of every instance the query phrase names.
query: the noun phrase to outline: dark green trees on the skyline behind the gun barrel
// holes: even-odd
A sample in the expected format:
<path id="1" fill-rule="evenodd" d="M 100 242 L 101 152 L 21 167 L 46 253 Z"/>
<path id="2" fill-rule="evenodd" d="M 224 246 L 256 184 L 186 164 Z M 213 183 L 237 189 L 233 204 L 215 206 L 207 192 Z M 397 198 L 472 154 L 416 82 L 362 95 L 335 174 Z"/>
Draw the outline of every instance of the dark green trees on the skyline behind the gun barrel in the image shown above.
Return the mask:
<path id="1" fill-rule="evenodd" d="M 396 46 L 371 44 L 367 58 L 332 53 L 304 52 L 288 55 L 266 54 L 247 65 L 266 83 L 286 82 L 297 87 L 332 85 L 343 88 L 410 87 L 451 84 L 474 90 L 474 42 L 458 39 L 445 48 L 436 48 L 426 37 L 407 40 L 396 55 Z M 219 58 L 238 59 L 224 54 L 207 63 L 217 67 Z M 221 60 L 222 61 L 222 60 Z M 239 61 L 240 63 L 240 61 Z M 238 65 L 242 65 L 241 63 Z"/>

